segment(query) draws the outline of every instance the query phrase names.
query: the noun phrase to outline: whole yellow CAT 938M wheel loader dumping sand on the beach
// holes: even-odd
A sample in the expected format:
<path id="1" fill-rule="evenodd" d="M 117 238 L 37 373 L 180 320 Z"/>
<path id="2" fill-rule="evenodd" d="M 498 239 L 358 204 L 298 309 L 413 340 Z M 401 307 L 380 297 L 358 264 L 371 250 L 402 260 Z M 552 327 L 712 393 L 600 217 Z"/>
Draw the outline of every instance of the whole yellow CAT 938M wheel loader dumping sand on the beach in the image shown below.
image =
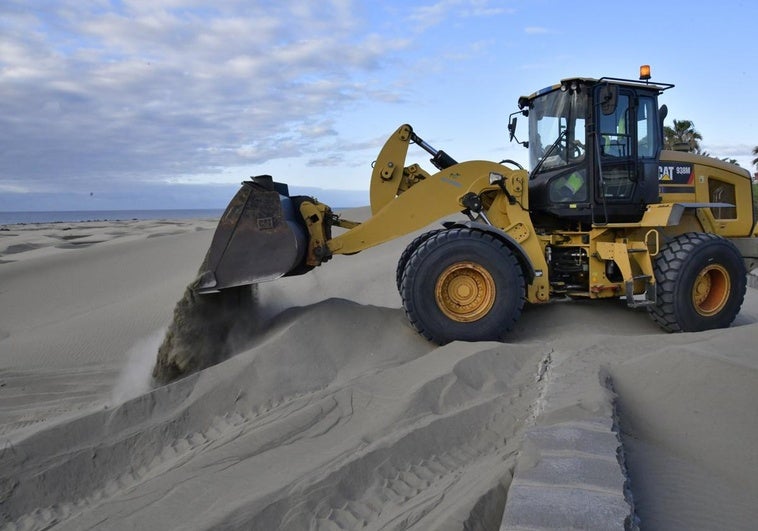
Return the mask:
<path id="1" fill-rule="evenodd" d="M 575 77 L 521 97 L 508 131 L 528 150 L 529 171 L 512 160 L 458 162 L 402 125 L 374 162 L 372 215 L 361 223 L 268 175 L 252 178 L 221 217 L 192 289 L 301 275 L 462 213 L 398 260 L 403 308 L 433 342 L 503 340 L 525 303 L 559 298 L 625 299 L 669 332 L 727 327 L 758 257 L 751 177 L 663 149 L 658 96 L 673 86 L 643 67 L 639 80 Z M 412 144 L 433 171 L 406 162 Z"/>

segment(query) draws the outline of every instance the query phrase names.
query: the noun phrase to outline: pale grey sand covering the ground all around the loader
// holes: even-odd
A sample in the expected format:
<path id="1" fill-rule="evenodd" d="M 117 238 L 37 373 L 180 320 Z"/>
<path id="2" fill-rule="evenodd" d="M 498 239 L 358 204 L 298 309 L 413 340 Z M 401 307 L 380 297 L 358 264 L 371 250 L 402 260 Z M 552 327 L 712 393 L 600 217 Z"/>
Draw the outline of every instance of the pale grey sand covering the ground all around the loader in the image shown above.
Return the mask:
<path id="1" fill-rule="evenodd" d="M 535 433 L 598 416 L 640 528 L 754 527 L 754 289 L 726 330 L 559 302 L 438 347 L 395 289 L 411 235 L 262 284 L 228 359 L 154 388 L 214 228 L 0 230 L 0 528 L 499 529 Z"/>

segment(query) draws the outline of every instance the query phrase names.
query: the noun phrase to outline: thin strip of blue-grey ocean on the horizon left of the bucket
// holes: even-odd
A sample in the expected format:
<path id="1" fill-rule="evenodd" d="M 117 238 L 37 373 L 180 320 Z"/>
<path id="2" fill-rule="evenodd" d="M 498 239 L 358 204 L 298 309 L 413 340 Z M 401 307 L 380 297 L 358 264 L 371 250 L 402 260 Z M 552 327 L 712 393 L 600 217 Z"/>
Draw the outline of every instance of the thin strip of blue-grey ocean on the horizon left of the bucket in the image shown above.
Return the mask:
<path id="1" fill-rule="evenodd" d="M 0 225 L 17 223 L 73 223 L 78 221 L 124 221 L 148 219 L 220 218 L 224 210 L 64 210 L 49 212 L 0 212 Z"/>

